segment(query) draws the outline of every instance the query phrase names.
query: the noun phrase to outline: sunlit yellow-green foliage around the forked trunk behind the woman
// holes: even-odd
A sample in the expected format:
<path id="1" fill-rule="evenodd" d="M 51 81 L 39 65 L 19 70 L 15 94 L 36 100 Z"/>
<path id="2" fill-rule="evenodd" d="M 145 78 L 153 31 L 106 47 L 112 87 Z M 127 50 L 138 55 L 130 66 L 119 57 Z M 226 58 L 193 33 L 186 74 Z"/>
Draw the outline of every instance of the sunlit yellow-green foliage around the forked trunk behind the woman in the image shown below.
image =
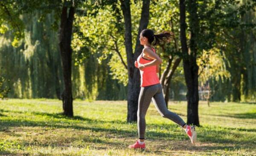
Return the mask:
<path id="1" fill-rule="evenodd" d="M 104 2 L 102 2 L 104 3 Z M 177 3 L 169 3 L 168 0 L 161 0 L 158 3 L 152 4 L 150 10 L 150 22 L 148 28 L 151 28 L 155 33 L 162 31 L 171 31 L 170 19 L 174 19 L 176 38 L 178 40 L 178 14 L 177 8 L 174 7 Z M 131 16 L 132 16 L 132 42 L 136 43 L 138 27 L 140 22 L 142 1 L 131 1 Z M 92 10 L 88 10 L 86 17 L 76 17 L 75 27 L 77 32 L 74 33 L 72 41 L 73 49 L 76 53 L 76 64 L 82 62 L 90 54 L 100 54 L 99 63 L 111 55 L 111 60 L 108 63 L 111 67 L 111 75 L 113 79 L 118 79 L 122 84 L 128 84 L 127 69 L 122 64 L 120 57 L 116 51 L 122 56 L 122 59 L 127 64 L 125 45 L 124 43 L 124 20 L 120 16 L 120 6 L 116 3 L 108 3 L 104 9 L 97 10 L 97 15 L 89 15 Z M 176 14 L 172 16 L 172 13 Z M 168 14 L 170 16 L 162 16 Z M 133 44 L 135 49 L 135 44 Z M 168 60 L 169 55 L 175 54 L 174 43 L 165 46 L 165 51 L 158 48 L 160 55 L 163 55 L 163 60 Z"/>

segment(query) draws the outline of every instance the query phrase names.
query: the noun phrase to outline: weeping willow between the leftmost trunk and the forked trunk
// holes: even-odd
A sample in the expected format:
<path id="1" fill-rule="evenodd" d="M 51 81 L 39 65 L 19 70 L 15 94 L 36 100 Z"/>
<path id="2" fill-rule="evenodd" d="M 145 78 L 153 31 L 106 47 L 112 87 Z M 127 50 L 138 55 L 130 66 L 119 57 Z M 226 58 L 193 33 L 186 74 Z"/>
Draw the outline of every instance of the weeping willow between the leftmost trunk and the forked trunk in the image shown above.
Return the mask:
<path id="1" fill-rule="evenodd" d="M 124 100 L 127 88 L 113 79 L 108 62 L 112 55 L 102 60 L 101 55 L 91 54 L 86 60 L 73 65 L 73 95 L 88 100 Z"/>

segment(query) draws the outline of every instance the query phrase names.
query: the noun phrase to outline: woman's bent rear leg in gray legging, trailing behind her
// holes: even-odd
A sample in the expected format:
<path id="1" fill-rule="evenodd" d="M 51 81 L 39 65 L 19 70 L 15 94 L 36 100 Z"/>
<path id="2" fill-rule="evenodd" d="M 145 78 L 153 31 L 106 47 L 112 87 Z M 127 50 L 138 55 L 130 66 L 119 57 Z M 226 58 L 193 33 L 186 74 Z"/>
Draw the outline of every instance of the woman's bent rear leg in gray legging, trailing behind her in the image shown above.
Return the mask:
<path id="1" fill-rule="evenodd" d="M 152 101 L 154 102 L 154 105 L 157 108 L 157 111 L 161 114 L 161 116 L 172 120 L 173 122 L 180 125 L 182 128 L 186 126 L 186 123 L 183 121 L 183 119 L 180 118 L 180 116 L 178 116 L 176 113 L 173 113 L 167 109 L 166 102 L 163 97 L 161 84 L 158 84 L 157 94 L 153 96 Z"/>

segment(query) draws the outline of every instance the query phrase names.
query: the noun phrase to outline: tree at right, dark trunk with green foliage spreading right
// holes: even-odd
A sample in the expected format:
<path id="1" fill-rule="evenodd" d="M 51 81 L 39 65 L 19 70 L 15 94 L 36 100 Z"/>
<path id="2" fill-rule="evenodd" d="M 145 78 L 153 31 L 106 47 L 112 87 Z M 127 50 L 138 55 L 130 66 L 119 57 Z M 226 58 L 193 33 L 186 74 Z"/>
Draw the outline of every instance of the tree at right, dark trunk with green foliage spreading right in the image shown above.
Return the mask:
<path id="1" fill-rule="evenodd" d="M 236 0 L 228 2 L 218 0 L 214 3 L 208 0 L 204 2 L 189 0 L 187 2 L 190 36 L 188 46 L 186 43 L 186 4 L 184 0 L 180 0 L 180 40 L 183 51 L 184 75 L 188 90 L 188 124 L 199 125 L 197 57 L 200 57 L 204 50 L 208 51 L 214 45 L 221 44 L 217 43 L 216 36 L 223 33 L 224 28 L 244 26 L 244 23 L 241 23 L 238 19 L 247 10 L 252 9 L 255 3 L 245 3 L 239 6 L 239 9 L 230 9 L 238 3 L 240 2 Z"/>

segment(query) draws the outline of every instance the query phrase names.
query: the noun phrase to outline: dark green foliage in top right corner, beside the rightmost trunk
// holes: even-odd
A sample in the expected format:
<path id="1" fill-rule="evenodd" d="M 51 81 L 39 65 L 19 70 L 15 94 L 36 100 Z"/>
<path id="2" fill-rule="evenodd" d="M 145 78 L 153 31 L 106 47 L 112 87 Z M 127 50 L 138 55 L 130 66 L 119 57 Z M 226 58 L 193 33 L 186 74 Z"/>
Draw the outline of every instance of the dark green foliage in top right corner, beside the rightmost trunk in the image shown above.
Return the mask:
<path id="1" fill-rule="evenodd" d="M 198 55 L 203 50 L 218 46 L 217 36 L 232 28 L 253 28 L 256 23 L 244 22 L 241 17 L 247 11 L 253 10 L 256 3 L 250 0 L 242 3 L 240 0 L 204 0 L 198 1 L 198 18 L 200 33 L 198 34 Z"/>

